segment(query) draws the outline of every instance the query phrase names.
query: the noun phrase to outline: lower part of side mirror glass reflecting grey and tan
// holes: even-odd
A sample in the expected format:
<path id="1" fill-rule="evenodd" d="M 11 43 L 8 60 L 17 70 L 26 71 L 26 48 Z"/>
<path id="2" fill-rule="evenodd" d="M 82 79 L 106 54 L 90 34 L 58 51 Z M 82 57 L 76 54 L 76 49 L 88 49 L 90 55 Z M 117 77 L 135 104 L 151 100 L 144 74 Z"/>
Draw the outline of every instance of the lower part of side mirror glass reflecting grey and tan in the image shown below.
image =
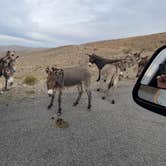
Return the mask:
<path id="1" fill-rule="evenodd" d="M 147 85 L 141 85 L 138 96 L 146 101 L 166 107 L 166 90 Z"/>

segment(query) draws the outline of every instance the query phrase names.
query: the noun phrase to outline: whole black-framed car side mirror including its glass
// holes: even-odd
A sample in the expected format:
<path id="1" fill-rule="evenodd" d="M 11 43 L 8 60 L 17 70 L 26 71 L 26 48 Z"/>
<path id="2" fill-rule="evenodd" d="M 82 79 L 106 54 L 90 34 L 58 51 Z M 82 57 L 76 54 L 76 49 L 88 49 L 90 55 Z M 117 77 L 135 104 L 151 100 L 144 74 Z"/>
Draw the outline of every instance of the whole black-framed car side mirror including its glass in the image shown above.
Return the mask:
<path id="1" fill-rule="evenodd" d="M 166 45 L 152 55 L 133 88 L 132 96 L 141 107 L 166 116 Z"/>

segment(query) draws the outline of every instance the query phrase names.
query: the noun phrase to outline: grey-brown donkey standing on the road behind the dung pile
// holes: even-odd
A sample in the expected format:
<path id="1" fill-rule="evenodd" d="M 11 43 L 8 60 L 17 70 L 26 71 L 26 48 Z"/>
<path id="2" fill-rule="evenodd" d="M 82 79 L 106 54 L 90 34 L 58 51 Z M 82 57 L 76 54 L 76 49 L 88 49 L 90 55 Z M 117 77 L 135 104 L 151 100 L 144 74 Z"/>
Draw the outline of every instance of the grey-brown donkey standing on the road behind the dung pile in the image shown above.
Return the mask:
<path id="1" fill-rule="evenodd" d="M 56 89 L 58 89 L 59 90 L 58 115 L 61 115 L 62 90 L 64 87 L 70 87 L 70 86 L 77 86 L 78 97 L 76 101 L 73 103 L 73 106 L 79 104 L 79 101 L 83 93 L 83 85 L 88 96 L 88 109 L 91 108 L 91 91 L 90 91 L 91 75 L 87 68 L 70 67 L 70 68 L 61 69 L 61 68 L 52 67 L 50 69 L 48 67 L 46 68 L 46 73 L 47 73 L 48 95 L 51 97 L 48 109 L 50 109 L 53 106 L 55 91 Z"/>

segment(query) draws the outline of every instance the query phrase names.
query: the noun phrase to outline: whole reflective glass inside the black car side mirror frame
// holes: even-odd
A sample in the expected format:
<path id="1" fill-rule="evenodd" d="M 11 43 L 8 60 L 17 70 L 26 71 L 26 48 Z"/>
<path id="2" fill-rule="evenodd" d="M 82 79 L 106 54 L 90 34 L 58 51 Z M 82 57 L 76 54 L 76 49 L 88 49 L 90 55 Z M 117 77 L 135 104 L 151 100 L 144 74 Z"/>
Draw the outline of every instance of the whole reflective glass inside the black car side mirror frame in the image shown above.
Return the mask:
<path id="1" fill-rule="evenodd" d="M 166 107 L 166 48 L 156 56 L 142 77 L 138 96 Z"/>

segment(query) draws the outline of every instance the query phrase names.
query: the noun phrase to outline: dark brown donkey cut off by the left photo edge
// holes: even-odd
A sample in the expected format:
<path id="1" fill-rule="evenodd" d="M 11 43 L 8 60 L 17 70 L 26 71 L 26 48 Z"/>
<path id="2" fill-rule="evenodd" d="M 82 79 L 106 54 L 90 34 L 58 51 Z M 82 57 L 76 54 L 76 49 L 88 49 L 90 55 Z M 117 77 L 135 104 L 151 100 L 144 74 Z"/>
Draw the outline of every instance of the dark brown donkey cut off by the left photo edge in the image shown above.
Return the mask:
<path id="1" fill-rule="evenodd" d="M 15 57 L 15 52 L 7 51 L 6 56 L 0 59 L 0 77 L 5 78 L 5 90 L 7 90 L 8 84 L 10 86 L 13 84 L 14 65 L 18 57 Z"/>

